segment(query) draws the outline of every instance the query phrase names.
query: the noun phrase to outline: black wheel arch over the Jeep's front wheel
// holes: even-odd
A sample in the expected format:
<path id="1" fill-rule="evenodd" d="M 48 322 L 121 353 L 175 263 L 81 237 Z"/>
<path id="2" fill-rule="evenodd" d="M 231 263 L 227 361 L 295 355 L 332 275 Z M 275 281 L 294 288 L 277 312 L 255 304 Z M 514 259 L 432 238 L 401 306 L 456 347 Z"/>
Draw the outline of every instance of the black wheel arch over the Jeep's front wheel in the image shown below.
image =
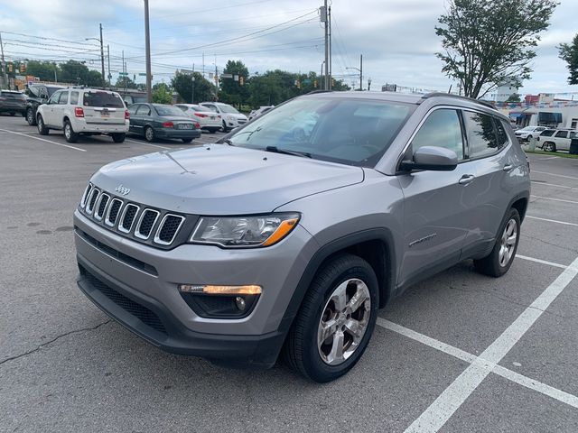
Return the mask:
<path id="1" fill-rule="evenodd" d="M 397 276 L 394 237 L 385 227 L 363 230 L 335 239 L 313 254 L 285 310 L 279 331 L 287 331 L 291 327 L 315 274 L 325 263 L 342 253 L 357 255 L 369 263 L 378 277 L 379 308 L 387 305 L 392 298 Z"/>

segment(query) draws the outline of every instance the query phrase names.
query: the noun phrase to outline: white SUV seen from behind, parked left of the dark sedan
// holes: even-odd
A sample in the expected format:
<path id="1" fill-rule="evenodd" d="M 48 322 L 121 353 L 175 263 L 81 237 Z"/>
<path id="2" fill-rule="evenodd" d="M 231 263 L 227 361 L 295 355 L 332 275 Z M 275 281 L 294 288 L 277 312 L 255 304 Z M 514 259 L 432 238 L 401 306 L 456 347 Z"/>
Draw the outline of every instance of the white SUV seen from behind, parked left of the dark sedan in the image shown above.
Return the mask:
<path id="1" fill-rule="evenodd" d="M 79 134 L 108 134 L 115 143 L 123 143 L 128 132 L 129 115 L 117 92 L 96 88 L 63 88 L 54 92 L 36 113 L 38 133 L 51 129 L 64 131 L 69 143 Z"/>

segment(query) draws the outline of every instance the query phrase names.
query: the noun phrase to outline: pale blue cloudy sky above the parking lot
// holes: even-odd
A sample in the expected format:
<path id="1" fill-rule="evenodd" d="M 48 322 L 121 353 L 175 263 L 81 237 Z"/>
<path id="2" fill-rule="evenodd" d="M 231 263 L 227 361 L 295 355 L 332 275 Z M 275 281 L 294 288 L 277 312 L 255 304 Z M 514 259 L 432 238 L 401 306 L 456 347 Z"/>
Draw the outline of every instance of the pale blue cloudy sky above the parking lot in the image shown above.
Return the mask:
<path id="1" fill-rule="evenodd" d="M 559 0 L 551 25 L 542 33 L 532 78 L 522 95 L 556 93 L 578 99 L 578 86 L 567 84 L 568 71 L 556 46 L 578 32 L 578 0 Z M 154 82 L 170 82 L 175 69 L 215 67 L 242 60 L 250 74 L 271 69 L 321 72 L 322 0 L 150 0 Z M 434 26 L 445 0 L 332 0 L 332 73 L 359 87 L 363 54 L 364 88 L 384 84 L 447 91 L 456 83 L 443 72 L 434 53 L 441 43 Z M 56 12 L 56 13 L 55 13 Z M 115 82 L 122 58 L 130 76 L 144 82 L 143 0 L 0 0 L 0 32 L 6 60 L 86 60 L 100 70 L 98 24 L 103 26 L 105 56 Z M 19 33 L 19 34 L 15 34 Z M 42 39 L 44 38 L 44 39 Z M 107 67 L 107 61 L 106 61 Z"/>

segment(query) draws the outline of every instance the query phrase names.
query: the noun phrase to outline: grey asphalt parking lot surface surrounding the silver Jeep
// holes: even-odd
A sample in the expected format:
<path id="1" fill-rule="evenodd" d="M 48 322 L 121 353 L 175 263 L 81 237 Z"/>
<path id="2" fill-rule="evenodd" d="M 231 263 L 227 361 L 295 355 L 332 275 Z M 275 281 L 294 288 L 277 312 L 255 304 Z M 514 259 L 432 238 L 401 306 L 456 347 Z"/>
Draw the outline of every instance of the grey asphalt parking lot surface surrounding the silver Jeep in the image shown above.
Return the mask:
<path id="1" fill-rule="evenodd" d="M 336 382 L 166 354 L 107 318 L 75 282 L 89 176 L 218 136 L 69 144 L 0 116 L 0 431 L 578 431 L 578 160 L 529 156 L 508 274 L 465 262 L 408 289 Z"/>

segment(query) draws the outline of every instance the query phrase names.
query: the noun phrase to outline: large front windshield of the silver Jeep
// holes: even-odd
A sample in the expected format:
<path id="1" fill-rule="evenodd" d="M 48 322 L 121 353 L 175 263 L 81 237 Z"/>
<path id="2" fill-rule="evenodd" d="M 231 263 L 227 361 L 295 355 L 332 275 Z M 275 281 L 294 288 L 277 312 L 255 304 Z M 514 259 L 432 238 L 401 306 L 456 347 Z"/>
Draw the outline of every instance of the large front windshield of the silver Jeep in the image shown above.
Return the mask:
<path id="1" fill-rule="evenodd" d="M 305 97 L 257 117 L 229 139 L 236 146 L 275 146 L 319 160 L 373 167 L 414 109 L 390 101 Z"/>

